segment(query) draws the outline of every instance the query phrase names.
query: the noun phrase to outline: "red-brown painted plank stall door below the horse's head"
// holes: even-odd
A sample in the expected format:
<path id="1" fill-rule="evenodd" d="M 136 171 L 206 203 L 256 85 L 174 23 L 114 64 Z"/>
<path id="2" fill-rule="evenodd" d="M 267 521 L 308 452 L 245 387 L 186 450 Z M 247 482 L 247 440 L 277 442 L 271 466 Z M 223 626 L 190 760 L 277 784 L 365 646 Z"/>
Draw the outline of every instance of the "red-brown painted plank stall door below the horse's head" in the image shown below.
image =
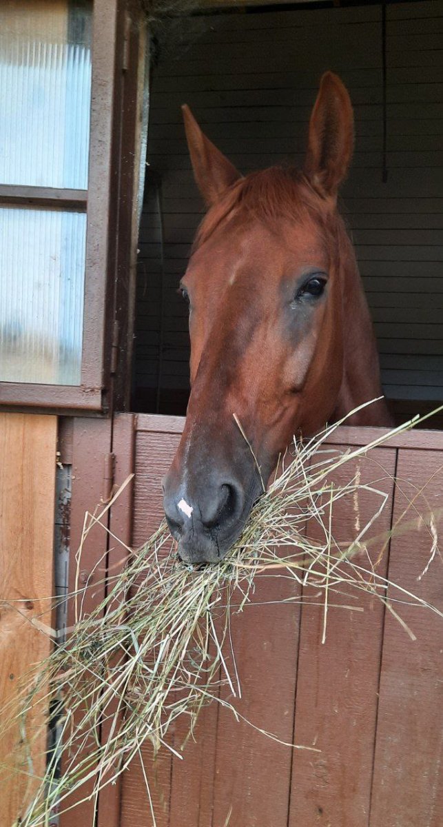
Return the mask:
<path id="1" fill-rule="evenodd" d="M 126 543 L 139 547 L 163 519 L 161 479 L 174 456 L 183 419 L 121 414 L 108 427 L 105 433 L 106 423 L 86 425 L 84 420 L 74 427 L 73 532 L 79 531 L 82 509 L 93 508 L 103 495 L 103 469 L 109 467 L 111 452 L 114 482 L 132 470 L 135 478 L 133 490 L 112 509 L 110 525 Z M 364 445 L 375 433 L 340 428 L 331 447 Z M 92 468 L 97 473 L 92 474 Z M 355 464 L 345 466 L 336 481 L 343 484 L 354 471 Z M 443 434 L 395 437 L 360 461 L 360 473 L 363 481 L 376 482 L 388 495 L 376 533 L 395 525 L 412 502 L 413 530 L 394 536 L 379 573 L 442 610 L 438 554 L 428 575 L 419 579 L 431 543 L 416 509 L 431 508 L 437 530 L 443 532 Z M 357 523 L 363 525 L 373 513 L 368 492 L 355 502 L 343 500 L 334 514 L 336 536 L 353 539 Z M 118 552 L 112 543 L 108 551 L 108 564 L 115 564 Z M 374 562 L 378 551 L 375 547 Z M 103 548 L 95 544 L 87 552 L 88 566 L 93 566 Z M 278 578 L 259 581 L 254 605 L 232 620 L 242 686 L 242 698 L 235 704 L 250 723 L 237 721 L 220 705 L 208 706 L 195 740 L 183 753 L 185 722 L 171 734 L 183 760 L 164 751 L 153 762 L 146 743 L 143 768 L 134 761 L 120 783 L 101 794 L 97 814 L 83 805 L 81 814 L 73 810 L 64 816 L 60 827 L 93 827 L 94 818 L 96 827 L 154 827 L 145 775 L 154 799 L 155 827 L 443 823 L 441 617 L 407 600 L 393 604 L 416 634 L 412 641 L 379 601 L 367 595 L 354 601 L 348 590 L 342 602 L 355 602 L 363 611 L 331 606 L 323 645 L 322 607 L 275 603 L 288 596 L 288 590 Z M 290 743 L 320 752 L 294 749 Z"/>

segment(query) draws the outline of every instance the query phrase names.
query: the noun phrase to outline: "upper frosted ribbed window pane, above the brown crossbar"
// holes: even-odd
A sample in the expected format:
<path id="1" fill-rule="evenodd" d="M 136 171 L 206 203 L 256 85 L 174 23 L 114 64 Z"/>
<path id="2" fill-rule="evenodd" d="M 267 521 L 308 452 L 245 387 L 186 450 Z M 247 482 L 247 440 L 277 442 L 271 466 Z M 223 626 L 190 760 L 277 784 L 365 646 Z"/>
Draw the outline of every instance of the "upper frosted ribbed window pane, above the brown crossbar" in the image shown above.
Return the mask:
<path id="1" fill-rule="evenodd" d="M 88 188 L 91 14 L 0 0 L 0 184 Z"/>

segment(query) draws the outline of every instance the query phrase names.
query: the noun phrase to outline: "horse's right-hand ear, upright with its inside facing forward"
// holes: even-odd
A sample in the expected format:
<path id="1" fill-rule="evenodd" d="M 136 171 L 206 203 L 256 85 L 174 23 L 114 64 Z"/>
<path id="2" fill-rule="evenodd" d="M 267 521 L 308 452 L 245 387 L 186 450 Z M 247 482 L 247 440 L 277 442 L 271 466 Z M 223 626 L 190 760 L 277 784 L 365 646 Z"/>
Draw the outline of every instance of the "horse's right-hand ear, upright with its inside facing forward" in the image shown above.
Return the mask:
<path id="1" fill-rule="evenodd" d="M 325 72 L 312 109 L 304 171 L 316 189 L 336 197 L 354 148 L 354 114 L 341 79 Z"/>

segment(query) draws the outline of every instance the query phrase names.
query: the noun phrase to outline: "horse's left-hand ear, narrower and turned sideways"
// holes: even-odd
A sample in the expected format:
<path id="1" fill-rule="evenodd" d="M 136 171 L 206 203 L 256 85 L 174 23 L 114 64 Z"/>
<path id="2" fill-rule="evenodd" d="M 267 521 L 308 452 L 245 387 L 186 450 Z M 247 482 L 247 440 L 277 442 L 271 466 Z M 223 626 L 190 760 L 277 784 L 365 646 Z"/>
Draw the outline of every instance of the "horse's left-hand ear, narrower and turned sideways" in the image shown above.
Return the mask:
<path id="1" fill-rule="evenodd" d="M 241 178 L 240 172 L 198 126 L 193 113 L 182 107 L 186 140 L 193 165 L 193 173 L 205 203 L 210 207 L 231 184 Z"/>

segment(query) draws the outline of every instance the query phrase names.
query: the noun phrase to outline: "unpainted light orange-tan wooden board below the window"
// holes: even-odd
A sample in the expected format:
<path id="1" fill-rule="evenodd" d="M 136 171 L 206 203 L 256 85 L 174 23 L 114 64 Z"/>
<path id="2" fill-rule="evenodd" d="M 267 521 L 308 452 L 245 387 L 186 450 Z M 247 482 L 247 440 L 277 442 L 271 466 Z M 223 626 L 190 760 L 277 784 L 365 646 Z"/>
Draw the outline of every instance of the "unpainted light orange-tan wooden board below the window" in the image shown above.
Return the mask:
<path id="1" fill-rule="evenodd" d="M 16 696 L 26 672 L 48 657 L 51 640 L 31 619 L 52 626 L 54 593 L 55 451 L 57 418 L 0 414 L 0 696 L 6 705 Z M 18 602 L 17 602 L 18 601 Z M 43 688 L 43 687 L 42 687 Z M 31 715 L 27 735 L 43 723 Z M 0 743 L 0 823 L 16 823 L 36 792 L 45 771 L 46 734 L 32 746 L 34 777 L 19 728 Z M 4 763 L 3 763 L 4 762 Z M 21 774 L 23 773 L 23 774 Z"/>

